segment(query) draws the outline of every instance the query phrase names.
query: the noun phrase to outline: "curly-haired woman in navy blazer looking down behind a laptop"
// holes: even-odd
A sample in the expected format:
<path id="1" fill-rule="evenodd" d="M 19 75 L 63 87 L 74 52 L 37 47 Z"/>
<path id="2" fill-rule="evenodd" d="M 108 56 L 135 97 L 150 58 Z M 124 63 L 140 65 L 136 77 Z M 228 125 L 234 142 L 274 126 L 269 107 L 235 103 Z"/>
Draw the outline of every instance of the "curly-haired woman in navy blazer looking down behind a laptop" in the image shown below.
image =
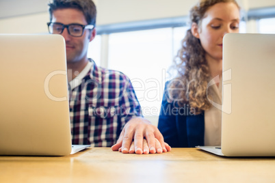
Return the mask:
<path id="1" fill-rule="evenodd" d="M 166 83 L 158 128 L 171 147 L 220 145 L 221 111 L 213 104 L 222 104 L 222 38 L 239 32 L 239 5 L 201 0 L 190 18 L 174 61 L 178 76 Z"/>

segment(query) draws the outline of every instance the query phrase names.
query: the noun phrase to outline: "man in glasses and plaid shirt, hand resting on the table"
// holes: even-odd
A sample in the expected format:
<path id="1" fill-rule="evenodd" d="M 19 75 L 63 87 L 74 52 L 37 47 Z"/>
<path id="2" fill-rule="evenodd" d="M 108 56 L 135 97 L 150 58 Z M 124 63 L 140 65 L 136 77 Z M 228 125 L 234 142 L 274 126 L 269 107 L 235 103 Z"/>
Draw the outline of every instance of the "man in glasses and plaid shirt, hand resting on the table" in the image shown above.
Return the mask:
<path id="1" fill-rule="evenodd" d="M 61 34 L 66 42 L 73 143 L 92 147 L 113 145 L 112 150 L 122 153 L 169 151 L 170 146 L 164 143 L 157 127 L 142 118 L 127 76 L 100 68 L 88 59 L 88 44 L 96 36 L 94 3 L 53 0 L 49 3 L 49 14 L 49 33 Z"/>

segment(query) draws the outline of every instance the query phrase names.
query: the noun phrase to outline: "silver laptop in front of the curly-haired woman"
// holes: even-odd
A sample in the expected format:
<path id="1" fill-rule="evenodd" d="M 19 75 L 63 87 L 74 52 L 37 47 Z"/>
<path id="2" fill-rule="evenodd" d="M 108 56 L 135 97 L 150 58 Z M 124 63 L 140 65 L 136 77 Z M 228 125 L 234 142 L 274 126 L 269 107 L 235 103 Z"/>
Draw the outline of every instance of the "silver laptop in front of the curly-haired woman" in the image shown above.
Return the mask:
<path id="1" fill-rule="evenodd" d="M 220 156 L 275 156 L 275 34 L 228 33 L 223 40 Z"/>

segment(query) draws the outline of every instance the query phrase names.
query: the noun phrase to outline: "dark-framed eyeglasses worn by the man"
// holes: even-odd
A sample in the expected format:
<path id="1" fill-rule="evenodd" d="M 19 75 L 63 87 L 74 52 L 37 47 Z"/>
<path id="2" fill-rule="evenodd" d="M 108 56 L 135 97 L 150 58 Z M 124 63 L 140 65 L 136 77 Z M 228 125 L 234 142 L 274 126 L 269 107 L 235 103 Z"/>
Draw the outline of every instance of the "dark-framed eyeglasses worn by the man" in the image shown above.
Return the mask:
<path id="1" fill-rule="evenodd" d="M 81 25 L 78 23 L 71 23 L 64 25 L 63 23 L 47 23 L 49 33 L 59 33 L 61 34 L 65 28 L 67 28 L 70 36 L 81 37 L 83 35 L 84 29 L 94 29 L 94 25 Z"/>

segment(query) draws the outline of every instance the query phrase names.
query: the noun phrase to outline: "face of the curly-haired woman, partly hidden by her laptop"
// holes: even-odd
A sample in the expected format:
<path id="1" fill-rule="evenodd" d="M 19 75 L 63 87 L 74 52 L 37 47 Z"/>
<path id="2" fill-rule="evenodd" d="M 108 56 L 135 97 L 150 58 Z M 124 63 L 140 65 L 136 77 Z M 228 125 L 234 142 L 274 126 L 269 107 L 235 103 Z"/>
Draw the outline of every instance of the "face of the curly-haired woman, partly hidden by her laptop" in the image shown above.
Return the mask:
<path id="1" fill-rule="evenodd" d="M 200 25 L 192 25 L 192 33 L 200 39 L 207 59 L 222 59 L 222 38 L 226 33 L 239 32 L 239 16 L 235 3 L 217 3 L 205 12 Z"/>

